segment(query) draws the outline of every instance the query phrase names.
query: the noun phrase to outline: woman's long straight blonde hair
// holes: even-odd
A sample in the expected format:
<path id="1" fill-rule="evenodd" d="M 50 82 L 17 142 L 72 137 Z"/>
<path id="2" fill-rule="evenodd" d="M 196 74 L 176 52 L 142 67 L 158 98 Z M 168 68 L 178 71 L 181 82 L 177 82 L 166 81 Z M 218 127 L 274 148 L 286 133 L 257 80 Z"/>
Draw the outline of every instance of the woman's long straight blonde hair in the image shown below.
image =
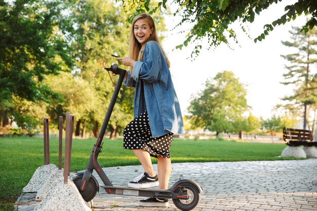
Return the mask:
<path id="1" fill-rule="evenodd" d="M 146 20 L 149 27 L 153 29 L 152 34 L 150 34 L 149 38 L 146 40 L 146 43 L 148 41 L 155 41 L 157 44 L 159 44 L 161 51 L 165 57 L 166 63 L 168 65 L 168 67 L 170 67 L 170 61 L 167 58 L 167 55 L 164 52 L 164 50 L 160 44 L 159 38 L 157 38 L 154 21 L 153 21 L 152 17 L 146 13 L 142 13 L 142 14 L 138 15 L 137 17 L 134 18 L 134 20 L 132 22 L 131 31 L 130 31 L 129 57 L 135 61 L 141 61 L 142 57 L 143 57 L 145 45 L 141 46 L 141 44 L 138 42 L 138 40 L 136 39 L 136 37 L 134 35 L 134 24 L 140 19 Z M 130 67 L 131 73 L 132 73 L 132 69 L 133 69 L 133 67 Z"/>

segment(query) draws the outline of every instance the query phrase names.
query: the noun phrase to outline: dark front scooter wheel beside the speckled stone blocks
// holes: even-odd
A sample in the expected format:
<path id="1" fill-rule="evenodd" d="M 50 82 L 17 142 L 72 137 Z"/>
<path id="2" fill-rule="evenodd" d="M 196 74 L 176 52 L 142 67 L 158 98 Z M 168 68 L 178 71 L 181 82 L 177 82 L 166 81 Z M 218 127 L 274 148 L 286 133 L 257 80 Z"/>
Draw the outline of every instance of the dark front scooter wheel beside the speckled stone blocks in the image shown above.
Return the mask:
<path id="1" fill-rule="evenodd" d="M 97 194 L 97 185 L 94 182 L 92 178 L 90 178 L 88 185 L 86 187 L 85 191 L 81 191 L 81 186 L 82 186 L 82 180 L 83 180 L 84 175 L 78 175 L 76 176 L 72 181 L 76 185 L 78 191 L 81 193 L 83 196 L 84 200 L 89 202 L 91 201 Z M 91 176 L 93 177 L 93 176 Z"/>

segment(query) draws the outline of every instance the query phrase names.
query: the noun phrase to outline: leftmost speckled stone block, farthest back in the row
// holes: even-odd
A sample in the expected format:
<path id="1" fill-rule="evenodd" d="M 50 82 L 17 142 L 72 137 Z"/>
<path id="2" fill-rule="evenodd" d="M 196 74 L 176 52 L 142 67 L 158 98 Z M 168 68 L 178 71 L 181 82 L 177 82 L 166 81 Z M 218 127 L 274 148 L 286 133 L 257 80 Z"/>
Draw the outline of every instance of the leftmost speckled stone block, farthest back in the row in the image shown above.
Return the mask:
<path id="1" fill-rule="evenodd" d="M 43 187 L 44 183 L 49 179 L 50 175 L 57 169 L 57 166 L 54 164 L 39 166 L 35 170 L 29 183 L 22 189 L 22 192 L 37 192 Z"/>

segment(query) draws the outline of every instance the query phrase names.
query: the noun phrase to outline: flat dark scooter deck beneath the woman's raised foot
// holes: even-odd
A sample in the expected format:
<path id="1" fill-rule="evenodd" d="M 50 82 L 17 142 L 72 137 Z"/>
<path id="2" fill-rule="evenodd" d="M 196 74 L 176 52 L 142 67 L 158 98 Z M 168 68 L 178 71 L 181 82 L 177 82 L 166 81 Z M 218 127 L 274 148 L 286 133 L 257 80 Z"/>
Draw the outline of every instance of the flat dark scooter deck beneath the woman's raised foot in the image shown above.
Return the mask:
<path id="1" fill-rule="evenodd" d="M 102 187 L 108 194 L 172 198 L 172 191 L 170 190 L 115 187 L 115 186 L 100 186 L 100 187 Z"/>

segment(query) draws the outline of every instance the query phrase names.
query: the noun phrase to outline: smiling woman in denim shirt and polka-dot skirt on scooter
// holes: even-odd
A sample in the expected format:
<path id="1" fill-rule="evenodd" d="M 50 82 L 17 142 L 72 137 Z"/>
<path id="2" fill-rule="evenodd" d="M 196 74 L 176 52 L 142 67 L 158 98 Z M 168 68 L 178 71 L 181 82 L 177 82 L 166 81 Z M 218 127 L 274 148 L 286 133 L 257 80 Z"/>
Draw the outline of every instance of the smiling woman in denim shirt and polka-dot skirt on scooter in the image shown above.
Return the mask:
<path id="1" fill-rule="evenodd" d="M 168 189 L 171 174 L 170 146 L 173 134 L 183 133 L 183 120 L 174 90 L 170 62 L 156 35 L 154 21 L 148 14 L 138 15 L 131 27 L 129 57 L 119 57 L 130 66 L 124 84 L 135 87 L 134 119 L 124 130 L 124 148 L 131 149 L 144 173 L 129 187 L 159 185 Z M 156 175 L 150 157 L 157 158 Z M 168 206 L 168 199 L 148 198 L 143 206 Z"/>

